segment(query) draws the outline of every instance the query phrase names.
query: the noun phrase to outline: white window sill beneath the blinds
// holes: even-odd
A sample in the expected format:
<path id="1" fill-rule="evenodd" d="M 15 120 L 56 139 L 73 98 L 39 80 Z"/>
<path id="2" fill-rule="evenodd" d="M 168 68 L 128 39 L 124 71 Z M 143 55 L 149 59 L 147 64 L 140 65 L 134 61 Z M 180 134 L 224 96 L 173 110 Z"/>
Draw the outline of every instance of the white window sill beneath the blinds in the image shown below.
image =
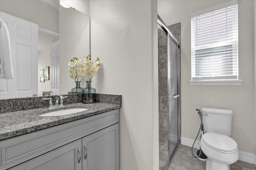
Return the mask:
<path id="1" fill-rule="evenodd" d="M 190 85 L 242 85 L 242 80 L 202 80 L 189 81 Z"/>

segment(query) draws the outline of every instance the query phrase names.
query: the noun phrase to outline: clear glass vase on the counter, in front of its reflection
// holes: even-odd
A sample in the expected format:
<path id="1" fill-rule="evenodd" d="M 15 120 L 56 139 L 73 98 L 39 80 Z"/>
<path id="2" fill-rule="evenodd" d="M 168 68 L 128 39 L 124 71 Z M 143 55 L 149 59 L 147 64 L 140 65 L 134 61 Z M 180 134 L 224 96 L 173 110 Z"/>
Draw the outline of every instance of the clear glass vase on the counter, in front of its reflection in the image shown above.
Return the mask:
<path id="1" fill-rule="evenodd" d="M 94 103 L 96 101 L 96 89 L 92 88 L 91 81 L 86 81 L 86 88 L 82 89 L 82 103 Z"/>

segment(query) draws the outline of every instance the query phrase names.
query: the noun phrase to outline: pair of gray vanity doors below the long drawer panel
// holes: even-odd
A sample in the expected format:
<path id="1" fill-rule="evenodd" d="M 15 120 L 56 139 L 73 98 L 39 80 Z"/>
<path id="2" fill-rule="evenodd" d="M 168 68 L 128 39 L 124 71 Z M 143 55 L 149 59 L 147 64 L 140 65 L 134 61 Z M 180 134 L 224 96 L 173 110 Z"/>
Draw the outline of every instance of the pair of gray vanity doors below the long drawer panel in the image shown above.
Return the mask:
<path id="1" fill-rule="evenodd" d="M 10 170 L 118 170 L 119 123 Z"/>

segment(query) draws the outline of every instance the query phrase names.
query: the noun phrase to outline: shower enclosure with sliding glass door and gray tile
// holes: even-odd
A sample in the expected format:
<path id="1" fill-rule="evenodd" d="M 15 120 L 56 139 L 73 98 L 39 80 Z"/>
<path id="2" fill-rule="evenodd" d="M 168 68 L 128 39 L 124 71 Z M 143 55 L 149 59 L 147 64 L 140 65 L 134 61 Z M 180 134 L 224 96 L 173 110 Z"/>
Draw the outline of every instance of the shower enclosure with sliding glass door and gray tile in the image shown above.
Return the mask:
<path id="1" fill-rule="evenodd" d="M 166 26 L 158 16 L 158 26 L 159 166 L 166 170 L 180 144 L 180 23 Z"/>

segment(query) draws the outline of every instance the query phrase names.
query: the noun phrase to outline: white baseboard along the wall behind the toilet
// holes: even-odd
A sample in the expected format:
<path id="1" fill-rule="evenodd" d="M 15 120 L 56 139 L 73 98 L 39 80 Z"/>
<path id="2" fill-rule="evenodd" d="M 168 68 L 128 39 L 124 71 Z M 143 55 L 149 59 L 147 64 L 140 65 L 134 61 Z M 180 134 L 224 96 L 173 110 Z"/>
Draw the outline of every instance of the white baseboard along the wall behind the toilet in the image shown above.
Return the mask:
<path id="1" fill-rule="evenodd" d="M 192 147 L 194 140 L 192 140 L 190 138 L 181 137 L 180 142 L 183 145 Z M 200 147 L 199 145 L 200 145 L 200 141 L 196 140 L 196 142 L 194 144 L 194 148 L 199 149 L 199 147 Z M 250 152 L 239 151 L 238 160 L 256 165 L 256 155 L 252 154 Z"/>

